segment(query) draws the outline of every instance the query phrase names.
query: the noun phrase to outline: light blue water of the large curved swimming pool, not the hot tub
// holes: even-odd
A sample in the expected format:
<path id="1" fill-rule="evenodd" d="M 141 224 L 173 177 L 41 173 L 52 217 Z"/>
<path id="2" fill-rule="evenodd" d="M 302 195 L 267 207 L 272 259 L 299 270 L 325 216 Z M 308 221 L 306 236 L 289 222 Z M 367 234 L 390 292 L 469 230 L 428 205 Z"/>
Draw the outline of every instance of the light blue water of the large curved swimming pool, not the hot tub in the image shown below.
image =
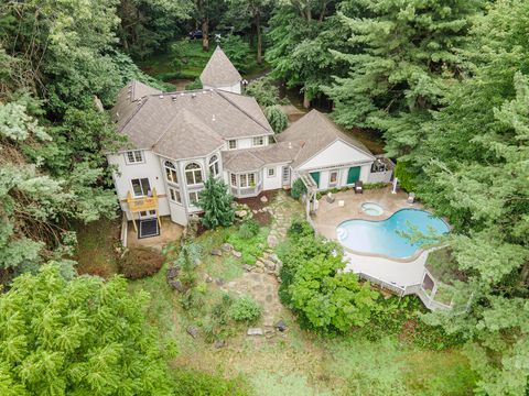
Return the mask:
<path id="1" fill-rule="evenodd" d="M 442 219 L 428 211 L 401 209 L 381 221 L 359 219 L 344 221 L 336 228 L 336 234 L 339 242 L 350 250 L 403 258 L 412 256 L 425 242 L 412 243 L 399 234 L 399 231 L 411 234 L 414 229 L 428 237 L 442 235 L 450 231 Z"/>

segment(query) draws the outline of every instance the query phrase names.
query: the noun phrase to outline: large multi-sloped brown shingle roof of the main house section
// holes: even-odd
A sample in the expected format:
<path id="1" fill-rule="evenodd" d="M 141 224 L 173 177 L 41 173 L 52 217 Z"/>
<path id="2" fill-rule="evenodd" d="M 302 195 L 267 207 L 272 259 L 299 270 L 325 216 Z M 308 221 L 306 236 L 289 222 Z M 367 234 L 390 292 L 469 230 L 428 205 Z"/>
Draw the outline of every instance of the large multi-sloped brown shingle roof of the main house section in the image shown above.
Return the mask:
<path id="1" fill-rule="evenodd" d="M 111 116 L 137 148 L 190 158 L 209 154 L 227 139 L 273 134 L 253 98 L 215 89 L 162 94 L 151 88 L 143 95 L 147 86 L 134 96 L 134 87 L 120 91 Z"/>

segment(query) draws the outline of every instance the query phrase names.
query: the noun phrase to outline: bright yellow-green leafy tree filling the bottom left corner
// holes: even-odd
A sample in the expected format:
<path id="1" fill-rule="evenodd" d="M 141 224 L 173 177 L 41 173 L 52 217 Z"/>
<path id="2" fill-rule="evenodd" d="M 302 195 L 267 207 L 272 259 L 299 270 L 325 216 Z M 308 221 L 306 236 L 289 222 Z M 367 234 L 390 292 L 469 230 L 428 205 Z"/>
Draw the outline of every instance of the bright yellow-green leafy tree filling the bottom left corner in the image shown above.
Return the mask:
<path id="1" fill-rule="evenodd" d="M 0 296 L 0 393 L 169 395 L 147 301 L 123 278 L 68 282 L 54 264 L 18 277 Z"/>

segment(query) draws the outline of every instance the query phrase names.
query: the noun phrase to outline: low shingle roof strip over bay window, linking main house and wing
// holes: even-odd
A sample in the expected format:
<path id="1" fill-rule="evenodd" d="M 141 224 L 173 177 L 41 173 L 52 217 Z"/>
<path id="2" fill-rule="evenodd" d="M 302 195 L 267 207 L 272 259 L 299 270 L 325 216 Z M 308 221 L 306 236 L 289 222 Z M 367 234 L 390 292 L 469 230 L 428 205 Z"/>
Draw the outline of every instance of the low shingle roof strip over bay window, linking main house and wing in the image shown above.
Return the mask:
<path id="1" fill-rule="evenodd" d="M 226 170 L 252 172 L 264 165 L 291 163 L 299 153 L 299 142 L 282 142 L 264 147 L 223 152 L 223 166 Z"/>

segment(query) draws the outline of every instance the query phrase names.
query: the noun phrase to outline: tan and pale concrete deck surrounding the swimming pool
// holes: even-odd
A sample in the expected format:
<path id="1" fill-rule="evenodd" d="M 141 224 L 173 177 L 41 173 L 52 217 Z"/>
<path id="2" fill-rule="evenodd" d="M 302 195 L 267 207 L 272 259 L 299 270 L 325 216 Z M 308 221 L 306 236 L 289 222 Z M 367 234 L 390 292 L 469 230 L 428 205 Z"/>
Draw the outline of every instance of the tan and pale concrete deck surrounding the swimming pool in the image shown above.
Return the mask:
<path id="1" fill-rule="evenodd" d="M 353 190 L 337 193 L 334 195 L 334 202 L 327 202 L 322 197 L 319 202 L 319 209 L 312 216 L 314 227 L 321 235 L 337 241 L 336 227 L 345 220 L 385 220 L 396 211 L 404 208 L 422 209 L 420 204 L 408 204 L 408 195 L 403 191 L 391 194 L 391 187 L 364 190 L 364 194 L 355 194 Z M 338 201 L 343 200 L 344 206 L 339 207 Z M 382 207 L 381 216 L 369 216 L 361 210 L 361 204 L 375 202 Z M 382 280 L 386 284 L 407 288 L 420 285 L 424 275 L 424 264 L 428 252 L 420 253 L 414 260 L 409 262 L 399 262 L 386 257 L 355 254 L 346 251 L 344 254 L 347 260 L 346 271 L 361 273 L 368 277 Z"/>

